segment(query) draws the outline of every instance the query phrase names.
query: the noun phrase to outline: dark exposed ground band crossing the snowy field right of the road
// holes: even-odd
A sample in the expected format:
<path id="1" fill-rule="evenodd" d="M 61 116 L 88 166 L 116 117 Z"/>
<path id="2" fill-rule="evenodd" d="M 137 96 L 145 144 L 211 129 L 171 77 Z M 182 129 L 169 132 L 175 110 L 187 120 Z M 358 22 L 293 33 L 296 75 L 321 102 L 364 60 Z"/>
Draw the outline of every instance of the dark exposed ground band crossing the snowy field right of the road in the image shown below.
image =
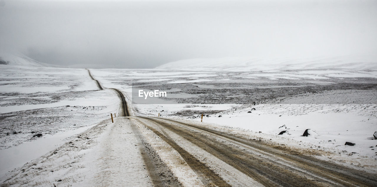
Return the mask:
<path id="1" fill-rule="evenodd" d="M 171 91 L 167 94 L 167 97 L 161 97 L 161 99 L 177 103 L 247 104 L 277 97 L 319 93 L 326 90 L 377 90 L 375 82 L 377 82 L 375 78 L 319 80 L 245 80 L 243 78 L 239 81 L 233 79 L 224 82 L 208 81 L 182 84 L 141 84 L 138 82 L 133 86 L 138 86 L 137 89 L 160 91 L 178 88 L 180 91 Z M 210 85 L 212 88 L 199 87 L 198 85 Z M 135 88 L 135 90 L 137 89 Z M 193 97 L 169 97 L 169 94 L 190 94 Z M 363 104 L 360 102 L 362 101 L 354 104 Z"/>

